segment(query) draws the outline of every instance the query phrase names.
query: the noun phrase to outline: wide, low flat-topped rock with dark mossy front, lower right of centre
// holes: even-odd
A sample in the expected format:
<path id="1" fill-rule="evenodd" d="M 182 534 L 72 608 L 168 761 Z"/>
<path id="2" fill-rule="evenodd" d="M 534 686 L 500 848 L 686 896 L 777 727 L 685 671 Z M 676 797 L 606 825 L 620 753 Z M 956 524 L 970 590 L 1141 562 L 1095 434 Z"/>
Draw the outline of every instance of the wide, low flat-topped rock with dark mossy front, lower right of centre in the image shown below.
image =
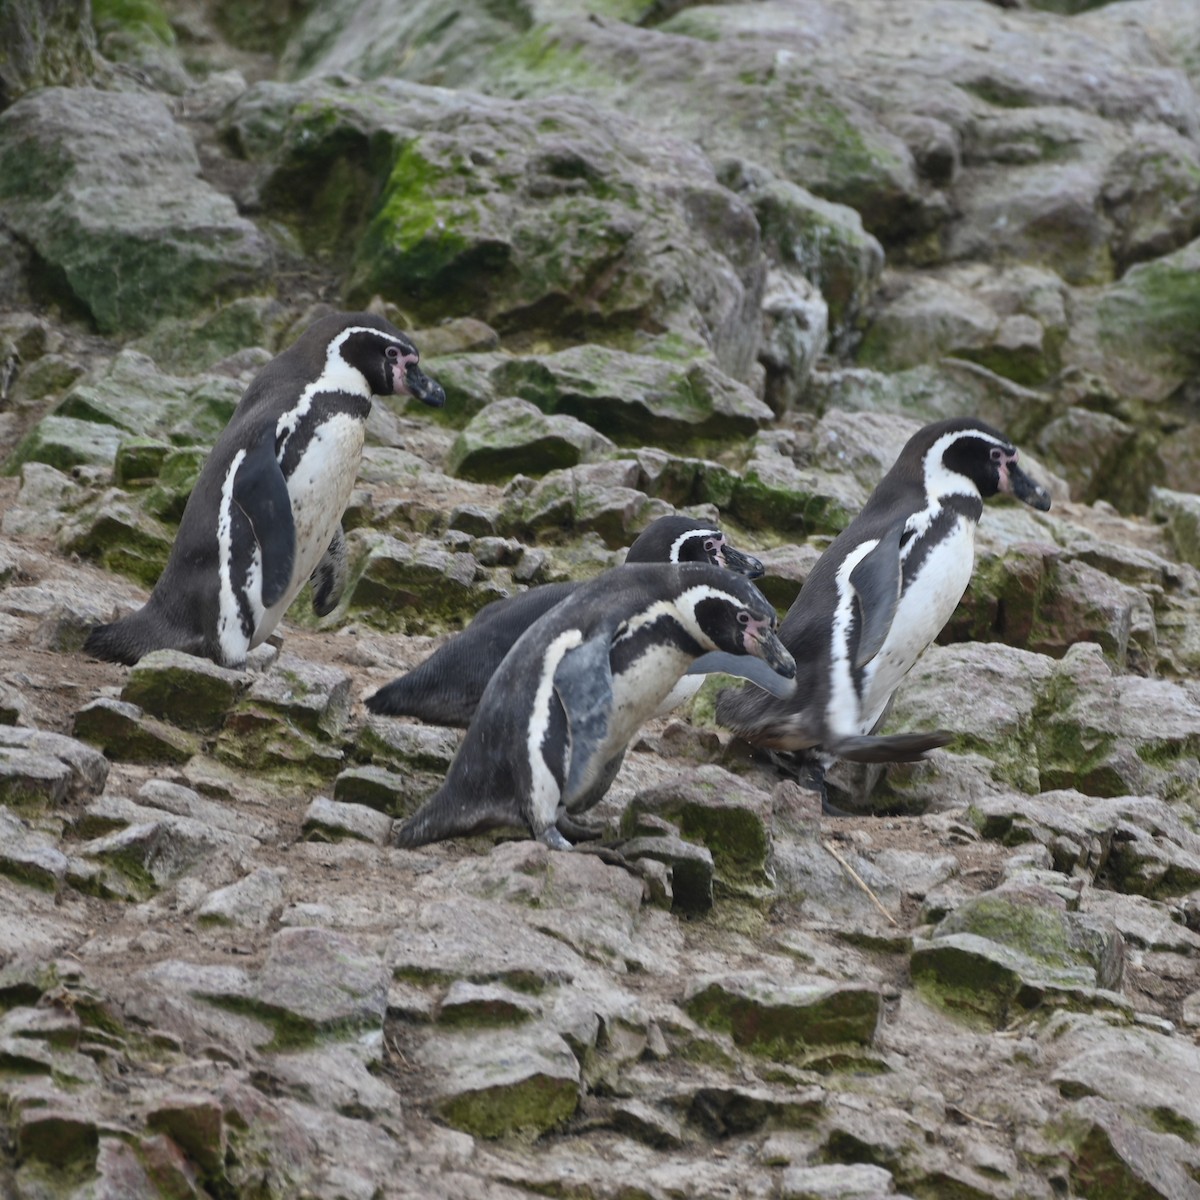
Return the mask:
<path id="1" fill-rule="evenodd" d="M 685 1006 L 701 1024 L 728 1031 L 751 1054 L 803 1062 L 814 1046 L 870 1045 L 882 997 L 875 988 L 824 979 L 780 985 L 749 973 L 697 980 L 688 988 Z"/>

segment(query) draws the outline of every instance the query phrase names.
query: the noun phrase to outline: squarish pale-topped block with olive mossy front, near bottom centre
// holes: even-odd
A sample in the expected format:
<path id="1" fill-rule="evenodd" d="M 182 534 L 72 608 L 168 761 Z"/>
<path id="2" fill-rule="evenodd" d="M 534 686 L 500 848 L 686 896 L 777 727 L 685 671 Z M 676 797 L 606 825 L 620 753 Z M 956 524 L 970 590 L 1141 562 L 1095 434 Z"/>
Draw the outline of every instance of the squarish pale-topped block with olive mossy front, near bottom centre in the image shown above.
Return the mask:
<path id="1" fill-rule="evenodd" d="M 444 1121 L 478 1138 L 539 1135 L 578 1105 L 580 1064 L 541 1030 L 446 1034 L 420 1048 Z"/>

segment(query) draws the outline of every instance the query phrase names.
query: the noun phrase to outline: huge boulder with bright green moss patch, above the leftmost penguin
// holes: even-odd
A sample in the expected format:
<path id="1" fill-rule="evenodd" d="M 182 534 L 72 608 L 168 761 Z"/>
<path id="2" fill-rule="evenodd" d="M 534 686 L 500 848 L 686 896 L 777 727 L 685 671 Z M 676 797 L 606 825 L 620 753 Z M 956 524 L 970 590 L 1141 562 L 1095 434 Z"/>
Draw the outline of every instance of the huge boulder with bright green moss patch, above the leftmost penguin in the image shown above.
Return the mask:
<path id="1" fill-rule="evenodd" d="M 362 169 L 352 146 L 377 148 L 371 211 L 352 215 L 330 194 L 330 222 L 298 226 L 317 253 L 354 247 L 355 294 L 500 332 L 667 329 L 708 346 L 734 378 L 749 370 L 764 276 L 757 228 L 686 143 L 562 96 L 505 103 L 392 80 L 262 84 L 228 128 L 269 157 L 264 202 L 292 220 L 298 196 L 319 211 L 331 180 Z M 472 158 L 482 144 L 492 154 Z"/>

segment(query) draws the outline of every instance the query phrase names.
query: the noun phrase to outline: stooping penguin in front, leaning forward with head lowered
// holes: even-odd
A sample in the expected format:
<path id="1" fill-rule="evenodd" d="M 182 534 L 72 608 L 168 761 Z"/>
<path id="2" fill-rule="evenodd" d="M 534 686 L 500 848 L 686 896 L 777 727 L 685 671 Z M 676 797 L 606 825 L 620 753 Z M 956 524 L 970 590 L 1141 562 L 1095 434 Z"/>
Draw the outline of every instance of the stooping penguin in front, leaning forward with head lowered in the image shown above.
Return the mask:
<path id="1" fill-rule="evenodd" d="M 484 691 L 442 787 L 395 827 L 413 847 L 523 826 L 556 850 L 608 790 L 634 734 L 696 660 L 754 662 L 786 694 L 796 664 L 746 578 L 708 563 L 616 566 L 530 625 Z M 752 658 L 748 658 L 752 656 Z"/>

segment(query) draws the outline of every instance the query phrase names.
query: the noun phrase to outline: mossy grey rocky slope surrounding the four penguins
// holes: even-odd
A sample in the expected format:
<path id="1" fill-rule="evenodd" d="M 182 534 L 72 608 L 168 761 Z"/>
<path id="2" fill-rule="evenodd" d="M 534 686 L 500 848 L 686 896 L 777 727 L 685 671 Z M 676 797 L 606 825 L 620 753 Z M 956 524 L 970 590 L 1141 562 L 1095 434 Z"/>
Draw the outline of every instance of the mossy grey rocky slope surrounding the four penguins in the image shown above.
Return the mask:
<path id="1" fill-rule="evenodd" d="M 1200 1196 L 1192 0 L 13 0 L 0 13 L 0 1194 Z M 84 658 L 254 371 L 414 330 L 352 586 L 245 671 Z M 712 722 L 644 877 L 388 848 L 364 696 L 673 509 L 791 602 L 919 424 L 991 504 L 821 812 Z"/>

